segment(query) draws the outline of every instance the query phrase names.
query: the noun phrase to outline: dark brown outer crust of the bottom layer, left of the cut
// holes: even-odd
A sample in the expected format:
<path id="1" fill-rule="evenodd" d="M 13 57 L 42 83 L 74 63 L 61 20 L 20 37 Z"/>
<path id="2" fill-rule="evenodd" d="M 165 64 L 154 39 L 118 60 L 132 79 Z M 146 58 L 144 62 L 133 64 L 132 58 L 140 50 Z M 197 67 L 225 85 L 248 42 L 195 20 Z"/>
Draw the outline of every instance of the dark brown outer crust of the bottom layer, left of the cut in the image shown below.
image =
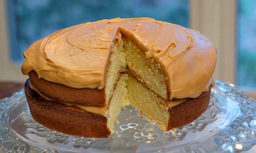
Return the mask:
<path id="1" fill-rule="evenodd" d="M 107 119 L 74 106 L 48 101 L 29 88 L 30 80 L 24 85 L 31 115 L 34 120 L 49 129 L 83 137 L 108 137 Z"/>

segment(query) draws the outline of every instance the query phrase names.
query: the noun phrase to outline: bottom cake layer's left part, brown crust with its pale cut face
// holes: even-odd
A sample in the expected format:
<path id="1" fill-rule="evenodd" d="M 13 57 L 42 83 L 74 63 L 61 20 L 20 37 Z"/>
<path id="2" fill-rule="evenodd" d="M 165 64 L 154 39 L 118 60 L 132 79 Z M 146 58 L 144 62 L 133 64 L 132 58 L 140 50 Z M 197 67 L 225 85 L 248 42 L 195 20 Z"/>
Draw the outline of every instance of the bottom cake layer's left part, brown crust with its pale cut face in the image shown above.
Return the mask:
<path id="1" fill-rule="evenodd" d="M 126 89 L 128 74 L 121 74 L 104 115 L 87 112 L 42 98 L 25 82 L 25 95 L 30 112 L 36 122 L 62 133 L 82 137 L 108 137 L 114 132 L 114 123 L 123 105 L 129 104 Z"/>

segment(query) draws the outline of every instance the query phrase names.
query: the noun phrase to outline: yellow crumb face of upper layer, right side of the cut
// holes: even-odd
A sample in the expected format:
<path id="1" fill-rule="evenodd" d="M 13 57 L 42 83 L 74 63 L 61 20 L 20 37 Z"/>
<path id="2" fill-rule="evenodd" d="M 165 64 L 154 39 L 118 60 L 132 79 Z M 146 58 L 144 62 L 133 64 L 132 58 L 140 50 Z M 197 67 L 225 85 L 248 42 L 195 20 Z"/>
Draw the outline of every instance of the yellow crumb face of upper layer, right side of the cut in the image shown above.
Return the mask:
<path id="1" fill-rule="evenodd" d="M 126 37 L 123 37 L 123 40 L 127 68 L 130 73 L 158 96 L 168 99 L 166 80 L 160 73 L 160 65 L 156 65 L 152 59 L 146 58 L 145 53 L 138 49 L 133 41 Z"/>

